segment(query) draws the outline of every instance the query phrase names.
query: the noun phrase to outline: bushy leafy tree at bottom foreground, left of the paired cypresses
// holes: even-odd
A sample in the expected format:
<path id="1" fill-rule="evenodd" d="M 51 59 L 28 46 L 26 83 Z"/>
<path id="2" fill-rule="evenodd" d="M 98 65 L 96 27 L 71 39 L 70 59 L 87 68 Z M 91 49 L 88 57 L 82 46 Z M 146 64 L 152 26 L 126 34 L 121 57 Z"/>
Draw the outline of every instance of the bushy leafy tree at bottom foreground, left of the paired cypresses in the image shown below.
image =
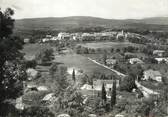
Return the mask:
<path id="1" fill-rule="evenodd" d="M 56 112 L 64 111 L 73 117 L 81 117 L 84 112 L 83 97 L 76 86 L 70 85 L 57 97 L 58 101 L 54 104 Z"/>

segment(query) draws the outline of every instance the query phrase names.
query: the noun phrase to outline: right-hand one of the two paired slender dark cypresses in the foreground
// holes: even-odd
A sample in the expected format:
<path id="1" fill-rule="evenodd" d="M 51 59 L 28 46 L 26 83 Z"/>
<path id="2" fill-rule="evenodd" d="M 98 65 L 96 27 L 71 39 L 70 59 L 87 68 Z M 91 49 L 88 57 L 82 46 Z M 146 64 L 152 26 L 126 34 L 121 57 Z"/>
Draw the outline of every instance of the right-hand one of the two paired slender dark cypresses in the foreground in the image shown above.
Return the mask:
<path id="1" fill-rule="evenodd" d="M 111 107 L 116 104 L 116 80 L 113 81 L 112 93 L 111 93 Z"/>

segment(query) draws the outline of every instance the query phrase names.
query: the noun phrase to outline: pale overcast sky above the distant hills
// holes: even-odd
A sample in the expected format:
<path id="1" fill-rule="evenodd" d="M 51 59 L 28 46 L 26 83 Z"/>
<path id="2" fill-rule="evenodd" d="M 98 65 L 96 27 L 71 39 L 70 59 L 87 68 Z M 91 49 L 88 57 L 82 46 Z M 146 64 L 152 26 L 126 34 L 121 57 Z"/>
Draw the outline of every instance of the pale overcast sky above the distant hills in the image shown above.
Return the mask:
<path id="1" fill-rule="evenodd" d="M 93 16 L 107 19 L 167 17 L 168 0 L 0 0 L 14 18 Z"/>

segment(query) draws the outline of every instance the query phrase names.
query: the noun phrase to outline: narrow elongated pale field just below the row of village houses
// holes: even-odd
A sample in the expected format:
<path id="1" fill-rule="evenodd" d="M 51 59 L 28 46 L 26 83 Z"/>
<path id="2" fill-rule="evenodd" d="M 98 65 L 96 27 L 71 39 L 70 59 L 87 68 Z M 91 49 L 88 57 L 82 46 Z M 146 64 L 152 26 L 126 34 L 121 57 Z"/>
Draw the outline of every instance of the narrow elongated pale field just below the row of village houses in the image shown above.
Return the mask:
<path id="1" fill-rule="evenodd" d="M 128 46 L 135 46 L 135 47 L 141 47 L 143 45 L 141 44 L 135 44 L 130 42 L 94 42 L 94 43 L 85 43 L 85 44 L 79 44 L 83 47 L 91 48 L 91 49 L 108 49 L 108 48 L 123 48 Z"/>

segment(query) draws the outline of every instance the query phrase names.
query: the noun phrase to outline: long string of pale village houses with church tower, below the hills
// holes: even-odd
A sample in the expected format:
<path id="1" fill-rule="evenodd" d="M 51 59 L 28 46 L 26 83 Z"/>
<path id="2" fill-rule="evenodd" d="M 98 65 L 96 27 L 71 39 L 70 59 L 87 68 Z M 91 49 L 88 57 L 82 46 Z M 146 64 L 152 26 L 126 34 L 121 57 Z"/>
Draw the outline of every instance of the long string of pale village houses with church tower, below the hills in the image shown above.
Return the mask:
<path id="1" fill-rule="evenodd" d="M 93 41 L 93 40 L 119 40 L 127 39 L 127 37 L 137 37 L 134 33 L 129 32 L 95 32 L 95 33 L 66 33 L 60 32 L 57 36 L 46 35 L 41 39 L 41 42 L 56 41 L 56 40 L 80 40 L 80 41 Z M 29 42 L 28 38 L 24 39 L 25 43 Z"/>

